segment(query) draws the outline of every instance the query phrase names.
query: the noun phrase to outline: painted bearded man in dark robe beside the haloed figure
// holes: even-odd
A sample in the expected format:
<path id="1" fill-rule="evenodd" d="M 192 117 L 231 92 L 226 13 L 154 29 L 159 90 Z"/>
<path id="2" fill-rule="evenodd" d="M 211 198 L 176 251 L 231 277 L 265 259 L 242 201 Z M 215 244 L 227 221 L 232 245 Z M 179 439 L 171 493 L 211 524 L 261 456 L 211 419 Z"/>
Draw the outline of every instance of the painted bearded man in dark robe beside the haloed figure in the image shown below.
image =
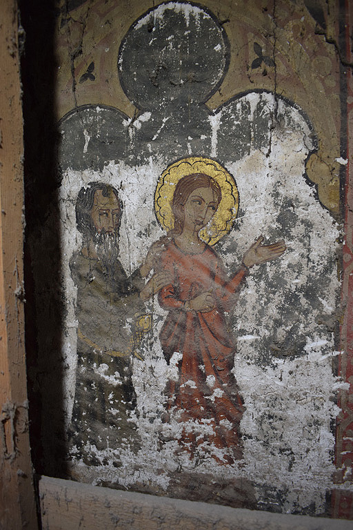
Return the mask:
<path id="1" fill-rule="evenodd" d="M 77 381 L 70 428 L 71 453 L 87 464 L 100 464 L 110 449 L 138 449 L 131 413 L 136 406 L 132 356 L 150 327 L 143 301 L 168 283 L 165 273 L 145 284 L 152 263 L 130 277 L 119 262 L 122 204 L 109 184 L 91 182 L 76 203 L 81 251 L 70 269 L 77 286 Z M 141 274 L 143 273 L 143 275 Z"/>

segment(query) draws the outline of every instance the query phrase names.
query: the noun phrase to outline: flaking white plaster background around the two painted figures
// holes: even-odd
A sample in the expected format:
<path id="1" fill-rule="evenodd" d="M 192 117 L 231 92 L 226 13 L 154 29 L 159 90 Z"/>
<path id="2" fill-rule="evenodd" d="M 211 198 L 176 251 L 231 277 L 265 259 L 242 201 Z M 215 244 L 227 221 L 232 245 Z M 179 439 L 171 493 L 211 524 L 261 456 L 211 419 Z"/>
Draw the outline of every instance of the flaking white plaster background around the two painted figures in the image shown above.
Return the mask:
<path id="1" fill-rule="evenodd" d="M 258 95 L 248 96 L 252 114 L 256 98 Z M 232 108 L 223 112 L 232 112 Z M 232 331 L 238 338 L 234 375 L 245 402 L 241 421 L 243 460 L 232 465 L 217 464 L 210 455 L 222 460 L 223 453 L 207 444 L 199 447 L 199 455 L 194 455 L 193 460 L 176 451 L 181 424 L 176 418 L 163 424 L 161 415 L 165 384 L 168 379 L 177 379 L 176 362 L 181 354 L 174 353 L 167 366 L 159 343 L 166 313 L 157 300 L 150 300 L 146 308 L 152 314 L 153 331 L 143 339 L 144 360 L 134 359 L 132 377 L 138 411 L 132 420 L 138 426 L 141 447 L 132 452 L 123 440 L 118 449 L 97 451 L 91 446 L 88 449 L 101 462 L 97 467 L 86 467 L 73 448 L 72 459 L 83 480 L 95 484 L 117 482 L 121 487 L 139 482 L 167 489 L 168 473 L 183 469 L 223 478 L 248 478 L 254 482 L 259 505 L 275 504 L 277 491 L 285 511 L 304 509 L 309 504 L 314 504 L 316 513 L 323 510 L 334 472 L 330 422 L 339 413 L 334 397 L 341 382 L 332 373 L 332 360 L 338 355 L 332 330 L 320 326 L 318 320 L 321 313 L 332 316 L 336 307 L 339 279 L 334 257 L 339 228 L 305 179 L 305 159 L 312 149 L 310 130 L 296 109 L 291 112 L 290 120 L 297 124 L 296 128 L 289 128 L 284 121 L 280 129 L 272 131 L 271 137 L 269 133 L 270 149 L 252 150 L 250 155 L 226 165 L 236 179 L 240 196 L 234 228 L 216 248 L 228 270 L 236 270 L 246 248 L 261 234 L 269 242 L 283 238 L 288 247 L 278 261 L 254 267 L 230 315 Z M 140 121 L 149 119 L 147 114 L 140 116 Z M 221 119 L 221 112 L 211 119 L 214 157 Z M 108 182 L 119 190 L 123 202 L 119 259 L 130 274 L 142 264 L 152 242 L 163 235 L 154 217 L 153 200 L 157 179 L 164 169 L 163 161 L 152 159 L 138 167 L 110 161 L 103 173 L 67 170 L 63 175 L 60 215 L 66 293 L 63 357 L 68 424 L 77 362 L 74 313 L 77 293 L 68 265 L 72 253 L 81 247 L 74 215 L 77 194 L 90 181 Z M 288 208 L 290 226 L 285 225 Z M 305 292 L 309 285 L 316 286 L 313 302 Z M 300 304 L 293 305 L 292 293 L 302 293 Z M 288 317 L 288 311 L 292 317 Z M 286 344 L 299 342 L 300 349 L 289 352 L 281 349 L 286 340 Z M 275 349 L 264 346 L 271 342 L 278 346 Z M 97 371 L 105 377 L 104 365 L 97 367 Z M 119 384 L 119 374 L 116 375 L 114 382 Z M 212 381 L 208 384 L 212 386 Z M 191 429 L 192 422 L 186 428 Z M 201 432 L 211 429 L 207 420 L 199 425 Z M 163 444 L 159 444 L 161 435 Z M 108 463 L 103 464 L 103 460 Z M 119 467 L 114 467 L 113 462 L 119 462 Z M 266 490 L 268 493 L 264 493 Z"/>

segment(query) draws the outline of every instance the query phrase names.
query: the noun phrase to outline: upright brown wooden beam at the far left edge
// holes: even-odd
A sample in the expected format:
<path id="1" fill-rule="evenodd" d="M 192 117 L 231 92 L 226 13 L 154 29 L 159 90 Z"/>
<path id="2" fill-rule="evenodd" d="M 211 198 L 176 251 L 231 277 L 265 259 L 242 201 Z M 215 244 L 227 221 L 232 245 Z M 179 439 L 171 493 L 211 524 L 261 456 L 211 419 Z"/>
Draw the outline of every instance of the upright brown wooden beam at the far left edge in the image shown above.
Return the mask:
<path id="1" fill-rule="evenodd" d="M 23 119 L 16 0 L 0 1 L 0 528 L 37 529 L 23 339 Z"/>

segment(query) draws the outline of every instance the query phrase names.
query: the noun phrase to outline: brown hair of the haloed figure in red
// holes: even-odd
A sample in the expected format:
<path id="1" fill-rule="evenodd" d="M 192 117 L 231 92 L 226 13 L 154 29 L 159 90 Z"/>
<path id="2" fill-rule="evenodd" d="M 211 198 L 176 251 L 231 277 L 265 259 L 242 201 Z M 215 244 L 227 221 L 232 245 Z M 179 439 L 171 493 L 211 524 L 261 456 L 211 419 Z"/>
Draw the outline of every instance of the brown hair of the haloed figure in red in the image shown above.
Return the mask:
<path id="1" fill-rule="evenodd" d="M 170 231 L 171 235 L 179 235 L 184 226 L 184 208 L 190 193 L 196 188 L 212 188 L 216 194 L 217 206 L 221 202 L 222 192 L 219 184 L 212 177 L 205 173 L 192 173 L 182 177 L 175 188 L 172 200 L 172 212 L 174 214 L 174 228 Z"/>

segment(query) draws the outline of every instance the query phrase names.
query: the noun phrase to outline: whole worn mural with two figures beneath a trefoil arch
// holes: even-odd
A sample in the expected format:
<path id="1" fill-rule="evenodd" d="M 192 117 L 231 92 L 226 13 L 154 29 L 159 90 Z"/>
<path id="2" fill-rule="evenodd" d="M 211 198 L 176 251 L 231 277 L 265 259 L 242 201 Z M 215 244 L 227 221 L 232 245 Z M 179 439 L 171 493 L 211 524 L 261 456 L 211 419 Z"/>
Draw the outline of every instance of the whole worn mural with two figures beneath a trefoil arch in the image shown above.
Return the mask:
<path id="1" fill-rule="evenodd" d="M 229 23 L 211 1 L 133 3 L 129 15 L 117 4 L 58 11 L 68 475 L 328 513 L 345 386 L 332 369 L 339 102 L 322 119 L 305 107 L 307 69 L 296 93 L 289 48 L 259 3 L 255 22 L 233 6 Z M 283 35 L 302 24 L 308 53 L 334 64 L 305 3 L 274 9 Z M 40 235 L 32 246 L 40 253 Z"/>

